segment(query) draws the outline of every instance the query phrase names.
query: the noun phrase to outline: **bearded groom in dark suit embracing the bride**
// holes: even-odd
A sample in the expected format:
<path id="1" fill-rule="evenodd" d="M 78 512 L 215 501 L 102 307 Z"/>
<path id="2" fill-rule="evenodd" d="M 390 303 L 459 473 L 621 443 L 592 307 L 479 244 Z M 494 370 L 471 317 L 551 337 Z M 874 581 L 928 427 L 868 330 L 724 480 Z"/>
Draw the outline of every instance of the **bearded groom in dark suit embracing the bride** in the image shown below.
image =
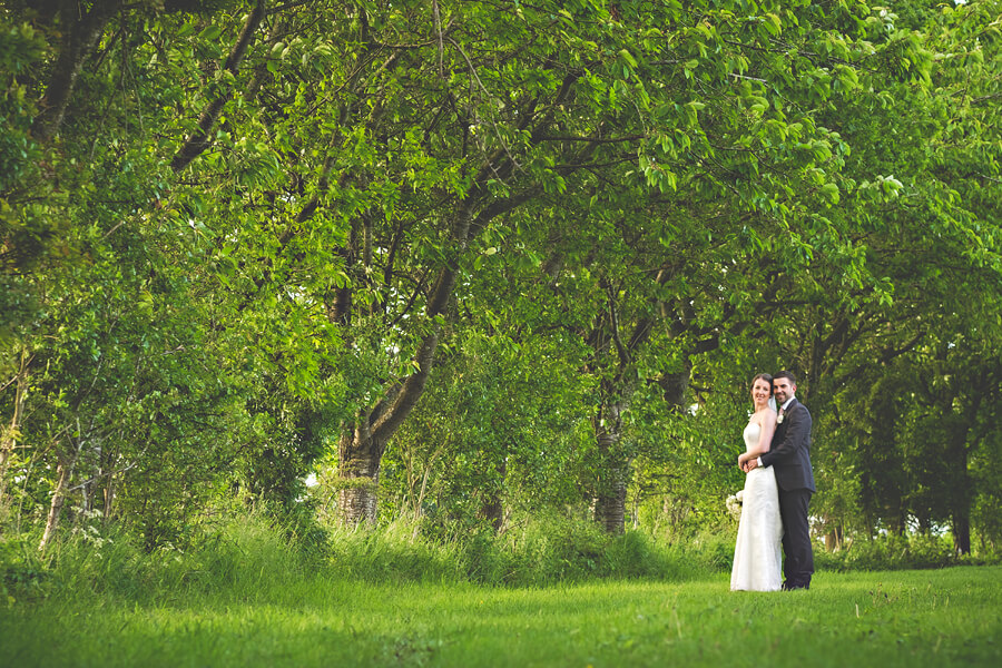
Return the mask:
<path id="1" fill-rule="evenodd" d="M 748 460 L 747 470 L 775 466 L 779 485 L 779 515 L 783 519 L 783 553 L 786 562 L 783 589 L 809 589 L 814 573 L 814 552 L 807 507 L 814 493 L 814 472 L 811 470 L 811 413 L 797 401 L 797 380 L 788 371 L 773 376 L 773 396 L 779 406 L 776 434 L 769 451 Z"/>

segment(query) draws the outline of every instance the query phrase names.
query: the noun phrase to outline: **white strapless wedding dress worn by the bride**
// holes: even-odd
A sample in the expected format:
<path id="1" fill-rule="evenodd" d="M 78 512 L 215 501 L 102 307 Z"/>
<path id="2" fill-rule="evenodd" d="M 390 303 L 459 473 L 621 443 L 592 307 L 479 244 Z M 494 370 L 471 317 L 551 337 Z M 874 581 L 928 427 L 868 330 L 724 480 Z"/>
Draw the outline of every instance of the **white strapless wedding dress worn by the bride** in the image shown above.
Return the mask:
<path id="1" fill-rule="evenodd" d="M 762 428 L 748 423 L 745 428 L 745 448 L 758 443 Z M 734 546 L 734 569 L 730 571 L 730 590 L 777 591 L 783 583 L 779 543 L 783 539 L 783 521 L 779 519 L 779 488 L 772 466 L 758 468 L 745 477 L 741 500 L 741 520 Z"/>

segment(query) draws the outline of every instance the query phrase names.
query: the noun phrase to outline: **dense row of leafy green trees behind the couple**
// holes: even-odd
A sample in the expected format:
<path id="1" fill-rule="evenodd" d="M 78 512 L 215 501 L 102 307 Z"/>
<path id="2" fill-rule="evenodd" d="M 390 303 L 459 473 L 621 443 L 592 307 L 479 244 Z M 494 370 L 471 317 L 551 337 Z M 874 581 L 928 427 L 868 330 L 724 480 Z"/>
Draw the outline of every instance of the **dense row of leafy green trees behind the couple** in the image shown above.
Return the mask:
<path id="1" fill-rule="evenodd" d="M 396 442 L 393 477 L 494 509 L 551 499 L 513 470 L 567 463 L 553 499 L 616 532 L 638 458 L 679 461 L 657 434 L 719 428 L 679 407 L 782 361 L 842 490 L 819 508 L 851 514 L 867 421 L 904 411 L 904 448 L 936 404 L 870 410 L 859 384 L 924 396 L 916 367 L 979 379 L 949 346 L 998 341 L 998 3 L 933 9 L 6 2 L 4 502 L 154 546 L 235 490 L 294 504 L 336 442 L 342 515 L 374 521 Z M 539 428 L 548 394 L 577 404 Z M 969 439 L 991 478 L 994 432 Z M 897 505 L 932 518 L 905 452 Z M 954 504 L 957 536 L 993 489 Z"/>

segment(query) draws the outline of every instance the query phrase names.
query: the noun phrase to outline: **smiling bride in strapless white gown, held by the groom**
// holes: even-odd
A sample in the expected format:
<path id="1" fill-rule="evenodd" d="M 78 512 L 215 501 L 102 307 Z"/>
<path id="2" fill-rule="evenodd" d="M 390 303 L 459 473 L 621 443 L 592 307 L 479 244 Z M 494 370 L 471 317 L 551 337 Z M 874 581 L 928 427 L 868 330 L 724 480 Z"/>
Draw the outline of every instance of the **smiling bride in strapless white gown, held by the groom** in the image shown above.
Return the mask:
<path id="1" fill-rule="evenodd" d="M 769 451 L 776 432 L 776 410 L 770 405 L 773 376 L 760 373 L 752 379 L 755 412 L 745 428 L 746 452 L 738 463 Z M 730 590 L 777 591 L 782 584 L 779 541 L 779 490 L 773 466 L 753 470 L 745 478 L 741 519 L 734 546 Z"/>

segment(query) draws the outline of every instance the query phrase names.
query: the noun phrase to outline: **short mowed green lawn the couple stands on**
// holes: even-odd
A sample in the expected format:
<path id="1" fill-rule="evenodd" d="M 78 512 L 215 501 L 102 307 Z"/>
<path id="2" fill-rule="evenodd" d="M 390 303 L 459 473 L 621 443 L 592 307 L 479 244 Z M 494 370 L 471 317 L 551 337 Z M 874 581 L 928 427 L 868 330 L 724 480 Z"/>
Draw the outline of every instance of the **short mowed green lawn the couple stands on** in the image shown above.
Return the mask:
<path id="1" fill-rule="evenodd" d="M 540 589 L 315 574 L 0 609 L 2 666 L 1002 666 L 1002 567 Z"/>

